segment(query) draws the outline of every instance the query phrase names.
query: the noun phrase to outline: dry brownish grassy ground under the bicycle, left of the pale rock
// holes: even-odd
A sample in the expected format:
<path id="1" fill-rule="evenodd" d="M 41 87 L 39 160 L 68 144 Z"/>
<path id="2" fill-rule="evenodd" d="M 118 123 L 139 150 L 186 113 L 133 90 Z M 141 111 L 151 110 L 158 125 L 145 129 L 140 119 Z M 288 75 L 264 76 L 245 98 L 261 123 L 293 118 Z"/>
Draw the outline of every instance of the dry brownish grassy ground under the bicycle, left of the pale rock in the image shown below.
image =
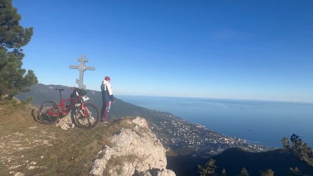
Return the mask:
<path id="1" fill-rule="evenodd" d="M 10 172 L 26 176 L 87 176 L 96 154 L 103 146 L 110 146 L 108 137 L 125 127 L 123 120 L 116 120 L 90 131 L 64 131 L 38 122 L 36 109 L 14 104 L 0 102 L 0 176 Z"/>

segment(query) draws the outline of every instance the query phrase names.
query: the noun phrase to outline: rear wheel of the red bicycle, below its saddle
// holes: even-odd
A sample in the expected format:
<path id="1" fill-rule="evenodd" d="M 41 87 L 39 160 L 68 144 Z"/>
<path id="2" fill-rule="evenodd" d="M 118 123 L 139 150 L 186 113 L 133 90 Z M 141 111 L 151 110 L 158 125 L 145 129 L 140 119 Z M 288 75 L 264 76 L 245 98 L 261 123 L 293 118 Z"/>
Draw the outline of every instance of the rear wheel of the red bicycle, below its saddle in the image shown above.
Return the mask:
<path id="1" fill-rule="evenodd" d="M 59 120 L 59 115 L 51 115 L 58 113 L 57 103 L 52 100 L 45 101 L 39 108 L 38 117 L 46 125 L 55 124 Z"/>

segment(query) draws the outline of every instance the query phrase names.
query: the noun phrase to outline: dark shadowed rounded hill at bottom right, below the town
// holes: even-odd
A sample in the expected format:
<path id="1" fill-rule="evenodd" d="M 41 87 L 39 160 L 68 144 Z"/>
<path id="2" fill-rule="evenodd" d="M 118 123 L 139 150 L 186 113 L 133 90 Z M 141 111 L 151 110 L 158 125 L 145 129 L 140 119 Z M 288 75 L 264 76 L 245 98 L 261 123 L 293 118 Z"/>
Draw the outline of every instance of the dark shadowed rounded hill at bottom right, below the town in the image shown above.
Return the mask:
<path id="1" fill-rule="evenodd" d="M 230 148 L 223 153 L 212 157 L 219 166 L 218 173 L 223 168 L 230 176 L 238 174 L 246 168 L 250 176 L 259 176 L 260 170 L 272 169 L 275 176 L 287 176 L 290 168 L 297 167 L 308 176 L 313 176 L 313 167 L 299 160 L 285 149 L 268 152 L 251 153 L 240 148 Z"/>

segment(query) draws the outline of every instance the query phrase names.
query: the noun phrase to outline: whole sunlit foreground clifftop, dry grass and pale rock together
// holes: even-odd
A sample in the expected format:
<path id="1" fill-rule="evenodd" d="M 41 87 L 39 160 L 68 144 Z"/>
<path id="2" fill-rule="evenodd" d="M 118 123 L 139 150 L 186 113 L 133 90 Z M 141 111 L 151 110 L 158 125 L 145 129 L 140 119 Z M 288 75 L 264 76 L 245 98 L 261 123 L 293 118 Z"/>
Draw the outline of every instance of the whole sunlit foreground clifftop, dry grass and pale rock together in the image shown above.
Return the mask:
<path id="1" fill-rule="evenodd" d="M 0 102 L 0 175 L 175 176 L 142 117 L 86 131 L 41 124 L 37 109 Z"/>

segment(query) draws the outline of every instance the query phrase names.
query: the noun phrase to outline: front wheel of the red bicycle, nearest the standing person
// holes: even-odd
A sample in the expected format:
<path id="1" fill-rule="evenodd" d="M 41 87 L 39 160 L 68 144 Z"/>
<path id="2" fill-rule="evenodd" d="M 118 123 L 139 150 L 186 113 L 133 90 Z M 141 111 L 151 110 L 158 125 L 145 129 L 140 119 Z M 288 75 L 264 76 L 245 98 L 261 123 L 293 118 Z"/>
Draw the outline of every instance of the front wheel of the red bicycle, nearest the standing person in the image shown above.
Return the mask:
<path id="1" fill-rule="evenodd" d="M 78 127 L 90 130 L 99 123 L 99 110 L 93 104 L 86 103 L 76 111 L 75 120 Z"/>

